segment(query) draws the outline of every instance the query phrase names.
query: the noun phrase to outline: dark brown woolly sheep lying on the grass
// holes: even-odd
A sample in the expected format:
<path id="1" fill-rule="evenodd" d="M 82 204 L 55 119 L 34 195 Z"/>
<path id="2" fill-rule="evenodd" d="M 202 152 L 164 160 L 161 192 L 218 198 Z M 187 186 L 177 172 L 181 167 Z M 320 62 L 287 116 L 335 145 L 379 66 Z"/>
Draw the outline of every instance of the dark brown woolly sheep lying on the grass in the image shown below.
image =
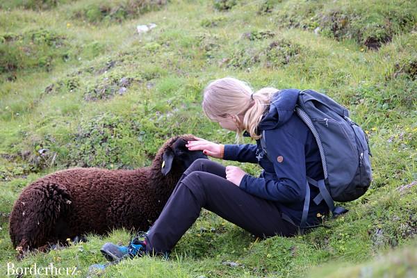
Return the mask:
<path id="1" fill-rule="evenodd" d="M 185 146 L 194 136 L 170 138 L 152 165 L 136 170 L 76 167 L 60 170 L 26 186 L 10 214 L 10 238 L 23 251 L 113 228 L 147 231 L 179 178 L 202 152 Z M 42 247 L 42 248 L 40 248 Z"/>

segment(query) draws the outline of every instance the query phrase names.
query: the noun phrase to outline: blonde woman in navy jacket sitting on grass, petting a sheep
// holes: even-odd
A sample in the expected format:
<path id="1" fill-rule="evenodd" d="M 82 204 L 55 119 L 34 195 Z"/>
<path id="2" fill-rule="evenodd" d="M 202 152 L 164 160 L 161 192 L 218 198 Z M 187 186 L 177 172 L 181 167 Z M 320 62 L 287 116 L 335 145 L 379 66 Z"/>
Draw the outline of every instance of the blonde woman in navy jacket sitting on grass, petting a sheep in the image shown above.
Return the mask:
<path id="1" fill-rule="evenodd" d="M 188 149 L 202 150 L 214 158 L 258 163 L 260 177 L 240 167 L 197 160 L 177 183 L 161 215 L 145 234 L 128 246 L 106 243 L 101 252 L 110 261 L 125 256 L 169 254 L 197 220 L 202 208 L 260 237 L 294 236 L 300 222 L 306 192 L 306 175 L 323 179 L 318 146 L 309 128 L 294 113 L 299 90 L 263 88 L 252 92 L 247 83 L 225 77 L 204 89 L 204 113 L 236 136 L 250 136 L 256 145 L 222 145 L 199 138 Z M 265 136 L 264 149 L 261 134 Z M 311 186 L 311 200 L 318 189 Z M 320 224 L 329 212 L 325 202 L 310 202 L 307 223 Z"/>

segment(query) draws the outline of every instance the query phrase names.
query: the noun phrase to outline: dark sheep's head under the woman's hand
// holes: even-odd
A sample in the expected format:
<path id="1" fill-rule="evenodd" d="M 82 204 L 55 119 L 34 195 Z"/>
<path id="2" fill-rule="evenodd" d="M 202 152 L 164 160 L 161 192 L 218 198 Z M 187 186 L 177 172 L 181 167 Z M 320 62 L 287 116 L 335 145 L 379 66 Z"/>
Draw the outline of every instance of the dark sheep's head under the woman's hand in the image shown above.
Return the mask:
<path id="1" fill-rule="evenodd" d="M 186 147 L 188 140 L 196 140 L 194 136 L 178 136 L 167 142 L 163 150 L 161 172 L 166 176 L 174 167 L 184 172 L 198 158 L 206 158 L 202 151 L 190 151 Z"/>

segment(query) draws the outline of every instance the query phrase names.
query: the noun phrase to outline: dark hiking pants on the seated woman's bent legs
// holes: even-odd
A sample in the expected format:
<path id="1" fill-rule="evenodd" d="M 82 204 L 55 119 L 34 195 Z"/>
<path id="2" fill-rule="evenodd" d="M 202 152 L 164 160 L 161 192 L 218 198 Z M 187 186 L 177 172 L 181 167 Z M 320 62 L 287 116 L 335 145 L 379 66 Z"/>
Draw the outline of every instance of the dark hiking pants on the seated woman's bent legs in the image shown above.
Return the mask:
<path id="1" fill-rule="evenodd" d="M 174 188 L 149 229 L 148 252 L 170 252 L 199 217 L 202 208 L 259 237 L 293 236 L 297 227 L 281 218 L 277 203 L 246 193 L 226 179 L 226 167 L 197 159 Z"/>

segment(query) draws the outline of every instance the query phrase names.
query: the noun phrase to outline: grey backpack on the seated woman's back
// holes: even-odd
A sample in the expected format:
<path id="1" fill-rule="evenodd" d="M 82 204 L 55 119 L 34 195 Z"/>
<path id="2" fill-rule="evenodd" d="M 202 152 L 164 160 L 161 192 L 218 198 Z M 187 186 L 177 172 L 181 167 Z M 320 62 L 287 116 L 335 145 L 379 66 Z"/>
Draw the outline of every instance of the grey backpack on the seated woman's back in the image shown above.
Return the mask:
<path id="1" fill-rule="evenodd" d="M 300 227 L 306 223 L 310 202 L 310 187 L 320 193 L 313 199 L 319 204 L 324 199 L 332 215 L 347 210 L 334 206 L 334 201 L 349 202 L 361 197 L 372 179 L 368 138 L 360 126 L 349 118 L 349 111 L 330 97 L 314 90 L 303 90 L 297 99 L 295 112 L 316 138 L 325 179 L 306 180 L 306 196 Z M 265 145 L 261 139 L 261 144 Z"/>

